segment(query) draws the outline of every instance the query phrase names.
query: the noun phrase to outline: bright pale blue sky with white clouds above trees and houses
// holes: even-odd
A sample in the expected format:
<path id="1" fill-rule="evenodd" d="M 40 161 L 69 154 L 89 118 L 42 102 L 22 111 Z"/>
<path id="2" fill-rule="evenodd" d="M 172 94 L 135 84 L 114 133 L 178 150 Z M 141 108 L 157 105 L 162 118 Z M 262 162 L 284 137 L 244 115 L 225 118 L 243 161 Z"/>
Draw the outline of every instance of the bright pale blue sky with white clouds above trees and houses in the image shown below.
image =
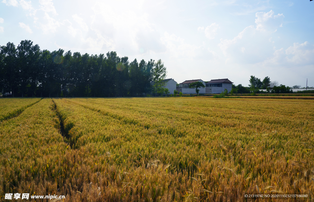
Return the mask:
<path id="1" fill-rule="evenodd" d="M 314 86 L 314 1 L 0 1 L 0 45 L 161 59 L 178 83 Z"/>

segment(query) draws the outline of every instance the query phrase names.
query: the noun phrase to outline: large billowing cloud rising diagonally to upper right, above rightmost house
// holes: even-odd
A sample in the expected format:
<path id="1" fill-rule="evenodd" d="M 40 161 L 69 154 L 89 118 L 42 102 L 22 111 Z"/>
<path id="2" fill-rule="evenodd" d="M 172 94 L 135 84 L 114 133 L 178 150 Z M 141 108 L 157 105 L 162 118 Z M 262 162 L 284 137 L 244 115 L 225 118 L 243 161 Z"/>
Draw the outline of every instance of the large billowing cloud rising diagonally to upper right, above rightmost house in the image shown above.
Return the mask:
<path id="1" fill-rule="evenodd" d="M 256 13 L 256 28 L 251 25 L 231 40 L 220 39 L 218 47 L 229 62 L 254 64 L 272 56 L 275 50 L 272 35 L 282 25 L 284 18 L 283 14 L 273 13 L 272 10 Z"/>

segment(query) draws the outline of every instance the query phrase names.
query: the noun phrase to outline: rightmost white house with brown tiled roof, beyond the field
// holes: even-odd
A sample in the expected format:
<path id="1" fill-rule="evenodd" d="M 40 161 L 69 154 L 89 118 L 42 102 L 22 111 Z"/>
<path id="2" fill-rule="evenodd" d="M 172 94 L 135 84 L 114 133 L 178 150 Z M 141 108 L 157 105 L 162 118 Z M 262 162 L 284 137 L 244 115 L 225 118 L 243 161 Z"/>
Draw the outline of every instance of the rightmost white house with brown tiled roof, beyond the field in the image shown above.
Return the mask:
<path id="1" fill-rule="evenodd" d="M 206 83 L 205 92 L 206 93 L 222 93 L 225 91 L 225 89 L 228 90 L 228 93 L 230 93 L 232 89 L 232 83 L 229 79 L 214 79 L 210 80 Z"/>

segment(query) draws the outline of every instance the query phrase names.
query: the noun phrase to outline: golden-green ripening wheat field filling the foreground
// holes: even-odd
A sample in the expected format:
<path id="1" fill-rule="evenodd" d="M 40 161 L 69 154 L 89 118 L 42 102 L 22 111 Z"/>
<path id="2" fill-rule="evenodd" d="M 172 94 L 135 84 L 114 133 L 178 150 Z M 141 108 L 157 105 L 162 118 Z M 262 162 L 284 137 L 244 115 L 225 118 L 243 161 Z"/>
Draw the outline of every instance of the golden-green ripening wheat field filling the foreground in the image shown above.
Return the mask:
<path id="1" fill-rule="evenodd" d="M 306 193 L 275 201 L 314 200 L 314 100 L 0 103 L 0 201 L 6 193 L 65 195 L 63 201 L 244 201 L 245 193 Z"/>

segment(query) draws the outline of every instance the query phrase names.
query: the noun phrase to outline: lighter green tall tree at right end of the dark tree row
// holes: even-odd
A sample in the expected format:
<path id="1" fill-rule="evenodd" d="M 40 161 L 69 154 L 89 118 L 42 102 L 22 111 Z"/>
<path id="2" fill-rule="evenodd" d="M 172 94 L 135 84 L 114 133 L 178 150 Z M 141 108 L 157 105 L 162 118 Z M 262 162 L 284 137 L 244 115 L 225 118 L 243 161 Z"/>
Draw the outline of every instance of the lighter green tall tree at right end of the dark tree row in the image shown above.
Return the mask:
<path id="1" fill-rule="evenodd" d="M 164 66 L 164 63 L 159 59 L 156 63 L 154 63 L 154 67 L 152 69 L 152 81 L 155 89 L 155 96 L 157 96 L 158 87 L 161 85 L 161 82 L 167 76 L 167 69 Z"/>

